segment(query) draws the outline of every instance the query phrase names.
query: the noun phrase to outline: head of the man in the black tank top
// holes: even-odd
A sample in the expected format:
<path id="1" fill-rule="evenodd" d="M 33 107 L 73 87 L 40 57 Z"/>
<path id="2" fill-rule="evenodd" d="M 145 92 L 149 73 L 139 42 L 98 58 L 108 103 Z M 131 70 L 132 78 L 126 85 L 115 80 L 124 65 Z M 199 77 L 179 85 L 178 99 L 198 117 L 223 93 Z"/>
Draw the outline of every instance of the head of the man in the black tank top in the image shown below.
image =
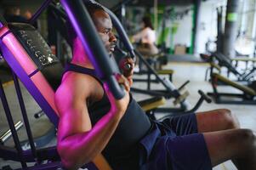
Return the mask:
<path id="1" fill-rule="evenodd" d="M 96 4 L 87 4 L 86 8 L 90 14 L 94 25 L 100 35 L 102 42 L 109 54 L 111 54 L 115 48 L 117 38 L 112 33 L 112 22 L 109 14 L 105 12 L 103 8 Z M 77 34 L 71 26 L 69 27 L 69 34 L 71 35 L 71 41 L 73 41 Z"/>

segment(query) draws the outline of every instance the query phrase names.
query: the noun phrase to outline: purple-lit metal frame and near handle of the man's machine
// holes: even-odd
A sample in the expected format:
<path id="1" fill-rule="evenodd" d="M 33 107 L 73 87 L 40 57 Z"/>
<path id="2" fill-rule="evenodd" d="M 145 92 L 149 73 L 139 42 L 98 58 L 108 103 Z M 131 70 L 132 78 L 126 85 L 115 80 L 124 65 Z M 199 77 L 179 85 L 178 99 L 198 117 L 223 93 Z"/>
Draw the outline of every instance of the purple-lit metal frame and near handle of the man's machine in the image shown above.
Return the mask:
<path id="1" fill-rule="evenodd" d="M 122 88 L 120 88 L 118 85 L 114 76 L 117 71 L 114 71 L 111 67 L 111 60 L 109 59 L 108 54 L 105 51 L 105 47 L 101 42 L 96 29 L 94 28 L 94 24 L 90 19 L 86 8 L 84 7 L 84 2 L 86 1 L 61 1 L 62 5 L 65 7 L 65 11 L 68 14 L 68 17 L 71 20 L 72 25 L 77 31 L 77 35 L 81 38 L 82 44 L 86 49 L 89 59 L 91 59 L 98 75 L 105 82 L 107 82 L 113 95 L 117 99 L 121 99 L 123 96 L 123 91 Z M 92 2 L 94 3 L 94 1 Z M 37 19 L 37 16 L 42 13 L 43 9 L 45 9 L 49 3 L 51 3 L 51 0 L 46 0 L 43 3 L 42 7 L 38 9 L 37 13 L 33 15 L 30 23 Z M 124 35 L 124 38 L 127 38 L 125 36 L 126 35 Z M 20 101 L 20 107 L 24 110 L 23 112 L 26 113 L 26 109 L 19 90 L 20 87 L 19 82 L 17 81 L 17 77 L 19 77 L 20 81 L 23 82 L 26 89 L 37 101 L 37 104 L 41 106 L 43 111 L 49 117 L 50 121 L 54 123 L 54 126 L 57 127 L 59 118 L 58 111 L 54 105 L 54 90 L 50 87 L 45 77 L 43 77 L 42 72 L 39 71 L 37 65 L 26 52 L 26 49 L 14 36 L 14 33 L 9 29 L 9 26 L 5 22 L 0 22 L 0 39 L 0 48 L 3 54 L 3 58 L 9 64 L 12 71 L 14 71 L 15 87 L 17 86 L 16 90 Z M 134 55 L 133 47 L 128 43 L 126 46 L 130 53 Z M 102 67 L 100 65 L 105 66 Z M 15 75 L 17 75 L 17 77 Z M 49 158 L 49 160 L 56 159 L 56 156 L 58 157 L 56 148 L 52 147 L 45 150 L 36 150 L 35 146 L 33 146 L 31 134 L 28 134 L 29 139 L 31 138 L 31 150 L 24 151 L 20 148 L 20 144 L 18 143 L 19 138 L 15 132 L 14 122 L 9 111 L 9 105 L 6 100 L 3 87 L 0 87 L 0 94 L 3 101 L 3 106 L 7 112 L 6 115 L 9 120 L 11 132 L 13 134 L 14 140 L 16 141 L 16 151 L 15 149 L 11 149 L 6 146 L 3 147 L 0 145 L 0 156 L 5 159 L 20 161 L 22 168 L 27 168 L 26 162 L 28 161 L 36 161 L 38 163 L 40 161 L 46 160 L 47 158 Z M 27 119 L 27 117 L 25 116 L 24 119 Z M 26 127 L 27 126 L 29 126 L 29 122 L 26 123 Z M 27 132 L 30 133 L 30 129 Z M 58 159 L 60 160 L 59 157 L 57 160 Z M 59 167 L 61 167 L 60 161 L 56 161 L 42 165 L 39 163 L 38 166 L 28 167 L 28 169 L 57 169 Z M 86 167 L 88 167 L 90 170 L 97 169 L 93 163 L 89 163 Z"/>

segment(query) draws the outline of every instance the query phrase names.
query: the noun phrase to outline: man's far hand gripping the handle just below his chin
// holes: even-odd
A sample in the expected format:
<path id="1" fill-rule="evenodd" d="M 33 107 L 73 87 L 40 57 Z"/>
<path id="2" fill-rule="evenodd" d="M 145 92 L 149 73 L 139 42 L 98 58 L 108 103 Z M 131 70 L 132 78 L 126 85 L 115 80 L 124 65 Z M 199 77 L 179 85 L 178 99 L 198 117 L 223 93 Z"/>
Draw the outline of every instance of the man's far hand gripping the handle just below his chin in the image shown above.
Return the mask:
<path id="1" fill-rule="evenodd" d="M 128 79 L 129 86 L 131 87 L 133 84 L 134 75 L 134 59 L 131 57 L 125 57 L 119 61 L 118 65 L 122 70 L 123 76 Z"/>

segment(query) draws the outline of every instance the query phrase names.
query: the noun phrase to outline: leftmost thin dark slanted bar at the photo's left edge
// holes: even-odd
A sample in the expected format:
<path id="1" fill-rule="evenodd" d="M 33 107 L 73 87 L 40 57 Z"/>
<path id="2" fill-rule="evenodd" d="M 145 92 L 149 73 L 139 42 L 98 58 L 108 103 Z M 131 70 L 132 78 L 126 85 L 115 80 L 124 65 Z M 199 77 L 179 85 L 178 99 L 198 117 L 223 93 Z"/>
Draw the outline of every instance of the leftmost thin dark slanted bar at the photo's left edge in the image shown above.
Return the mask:
<path id="1" fill-rule="evenodd" d="M 9 123 L 10 130 L 12 132 L 15 148 L 18 151 L 18 155 L 20 156 L 21 166 L 23 168 L 26 168 L 27 167 L 26 166 L 26 161 L 24 161 L 24 157 L 23 157 L 23 153 L 22 153 L 23 150 L 22 150 L 21 145 L 20 145 L 20 139 L 19 139 L 18 134 L 17 134 L 17 132 L 15 130 L 15 127 L 14 127 L 14 120 L 13 120 L 13 117 L 12 117 L 11 112 L 9 110 L 8 101 L 6 99 L 1 80 L 0 80 L 0 97 L 1 97 L 1 100 L 2 100 L 3 109 L 4 109 L 4 112 L 5 112 L 7 121 Z"/>

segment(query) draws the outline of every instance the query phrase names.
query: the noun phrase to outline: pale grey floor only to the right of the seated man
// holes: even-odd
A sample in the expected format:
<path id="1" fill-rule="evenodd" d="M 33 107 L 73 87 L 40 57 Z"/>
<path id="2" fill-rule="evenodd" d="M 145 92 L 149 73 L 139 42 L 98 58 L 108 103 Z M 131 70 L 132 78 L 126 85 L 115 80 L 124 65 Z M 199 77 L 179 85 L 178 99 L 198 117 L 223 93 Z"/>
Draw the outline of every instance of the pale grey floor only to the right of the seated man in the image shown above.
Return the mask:
<path id="1" fill-rule="evenodd" d="M 205 93 L 212 92 L 212 87 L 209 82 L 204 81 L 205 72 L 208 68 L 207 64 L 196 64 L 196 63 L 171 63 L 166 65 L 164 68 L 174 69 L 174 85 L 179 87 L 186 80 L 191 82 L 187 85 L 186 89 L 189 90 L 190 96 L 188 97 L 191 106 L 196 104 L 197 99 L 199 99 L 198 89 L 202 89 Z M 134 86 L 141 86 L 141 83 L 134 83 Z M 144 85 L 145 86 L 145 85 Z M 153 86 L 153 88 L 160 88 L 159 85 Z M 230 87 L 221 87 L 219 89 L 221 92 L 234 92 L 240 93 L 238 90 Z M 137 99 L 143 99 L 147 96 L 145 95 L 135 95 Z M 171 101 L 168 101 L 166 106 L 172 105 Z M 214 103 L 208 104 L 206 102 L 199 108 L 199 111 L 208 111 L 219 108 L 230 109 L 238 118 L 241 123 L 242 128 L 250 128 L 256 132 L 256 106 L 255 105 L 216 105 Z M 221 165 L 214 167 L 213 170 L 236 170 L 236 167 L 231 161 L 226 161 Z"/>

